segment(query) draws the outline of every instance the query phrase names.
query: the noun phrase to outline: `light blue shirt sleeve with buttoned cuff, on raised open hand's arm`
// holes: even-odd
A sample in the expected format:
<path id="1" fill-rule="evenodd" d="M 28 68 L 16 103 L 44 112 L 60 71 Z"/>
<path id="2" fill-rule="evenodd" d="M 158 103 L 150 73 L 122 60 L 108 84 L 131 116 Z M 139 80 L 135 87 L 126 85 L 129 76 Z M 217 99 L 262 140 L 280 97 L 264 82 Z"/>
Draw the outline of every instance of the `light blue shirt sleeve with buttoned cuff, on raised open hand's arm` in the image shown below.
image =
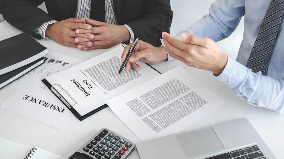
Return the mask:
<path id="1" fill-rule="evenodd" d="M 216 77 L 228 85 L 236 96 L 251 105 L 282 113 L 284 106 L 284 79 L 274 79 L 254 73 L 251 69 L 228 58 L 223 72 Z"/>

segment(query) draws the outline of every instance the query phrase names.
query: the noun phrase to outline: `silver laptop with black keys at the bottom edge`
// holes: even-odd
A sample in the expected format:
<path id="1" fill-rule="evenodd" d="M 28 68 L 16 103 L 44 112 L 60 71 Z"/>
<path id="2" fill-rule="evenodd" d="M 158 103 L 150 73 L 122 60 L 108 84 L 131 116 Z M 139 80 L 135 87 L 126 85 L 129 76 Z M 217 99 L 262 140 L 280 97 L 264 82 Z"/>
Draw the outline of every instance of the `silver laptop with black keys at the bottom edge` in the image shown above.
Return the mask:
<path id="1" fill-rule="evenodd" d="M 276 159 L 246 118 L 136 144 L 141 159 Z"/>

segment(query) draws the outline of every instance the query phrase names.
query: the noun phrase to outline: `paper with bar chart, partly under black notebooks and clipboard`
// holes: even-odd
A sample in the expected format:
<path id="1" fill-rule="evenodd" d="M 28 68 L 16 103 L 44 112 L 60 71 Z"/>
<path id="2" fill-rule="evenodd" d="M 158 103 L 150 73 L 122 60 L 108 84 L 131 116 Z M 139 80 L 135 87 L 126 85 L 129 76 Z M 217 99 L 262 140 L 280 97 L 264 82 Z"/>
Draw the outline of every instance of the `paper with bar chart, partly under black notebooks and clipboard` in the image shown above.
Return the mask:
<path id="1" fill-rule="evenodd" d="M 74 66 L 82 60 L 48 51 L 45 56 L 45 63 L 30 71 L 28 74 L 18 78 L 8 85 L 14 89 L 24 92 L 35 93 L 44 96 L 47 99 L 55 98 L 54 94 L 42 83 L 42 79 Z"/>

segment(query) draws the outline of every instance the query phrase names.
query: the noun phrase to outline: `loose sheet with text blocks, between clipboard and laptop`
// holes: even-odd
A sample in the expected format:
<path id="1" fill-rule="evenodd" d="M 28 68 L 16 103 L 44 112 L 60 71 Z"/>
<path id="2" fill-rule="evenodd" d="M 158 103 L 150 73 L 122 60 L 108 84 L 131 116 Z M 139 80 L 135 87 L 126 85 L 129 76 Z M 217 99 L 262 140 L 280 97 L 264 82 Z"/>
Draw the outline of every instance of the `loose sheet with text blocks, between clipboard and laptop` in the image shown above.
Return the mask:
<path id="1" fill-rule="evenodd" d="M 106 103 L 145 141 L 181 132 L 225 100 L 179 66 Z"/>

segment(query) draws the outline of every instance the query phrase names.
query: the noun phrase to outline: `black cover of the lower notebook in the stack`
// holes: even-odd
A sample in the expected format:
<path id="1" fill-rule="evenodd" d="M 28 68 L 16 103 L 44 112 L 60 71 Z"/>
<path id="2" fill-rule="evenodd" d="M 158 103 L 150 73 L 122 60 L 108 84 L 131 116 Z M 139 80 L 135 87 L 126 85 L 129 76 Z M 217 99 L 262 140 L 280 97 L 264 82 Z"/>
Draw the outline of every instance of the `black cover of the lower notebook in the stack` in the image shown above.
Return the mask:
<path id="1" fill-rule="evenodd" d="M 25 65 L 25 66 L 22 66 L 22 67 L 20 67 L 20 68 L 17 68 L 16 70 L 13 70 L 13 71 L 10 71 L 10 72 L 8 72 L 8 73 L 5 73 L 5 74 L 2 74 L 2 75 L 0 75 L 0 84 L 2 84 L 2 83 L 4 83 L 5 81 L 8 81 L 8 80 L 10 80 L 11 78 L 13 78 L 14 76 L 17 76 L 18 74 L 20 74 L 21 72 L 23 72 L 23 71 L 25 71 L 26 69 L 28 69 L 28 68 L 30 68 L 31 66 L 33 66 L 33 65 L 35 65 L 36 63 L 38 63 L 39 61 L 43 61 L 43 57 L 42 58 L 40 58 L 40 59 L 37 59 L 36 61 L 34 61 L 34 62 L 32 62 L 32 63 L 30 63 L 30 64 L 28 64 L 28 65 Z M 42 62 L 41 64 L 43 64 L 44 62 Z M 41 64 L 39 64 L 39 65 L 41 65 Z M 39 66 L 39 65 L 37 65 L 37 66 Z M 35 66 L 34 68 L 36 68 L 37 66 Z M 32 69 L 33 70 L 33 69 Z M 31 70 L 30 70 L 31 71 Z M 28 71 L 28 72 L 30 72 L 30 71 Z M 27 72 L 27 73 L 28 73 Z M 23 75 L 22 75 L 23 76 Z M 21 77 L 21 76 L 20 76 Z M 14 81 L 14 80 L 13 80 Z M 12 81 L 10 81 L 9 83 L 11 83 Z M 9 84 L 9 83 L 7 83 L 7 84 Z M 0 87 L 0 89 L 1 89 L 1 87 Z"/>

